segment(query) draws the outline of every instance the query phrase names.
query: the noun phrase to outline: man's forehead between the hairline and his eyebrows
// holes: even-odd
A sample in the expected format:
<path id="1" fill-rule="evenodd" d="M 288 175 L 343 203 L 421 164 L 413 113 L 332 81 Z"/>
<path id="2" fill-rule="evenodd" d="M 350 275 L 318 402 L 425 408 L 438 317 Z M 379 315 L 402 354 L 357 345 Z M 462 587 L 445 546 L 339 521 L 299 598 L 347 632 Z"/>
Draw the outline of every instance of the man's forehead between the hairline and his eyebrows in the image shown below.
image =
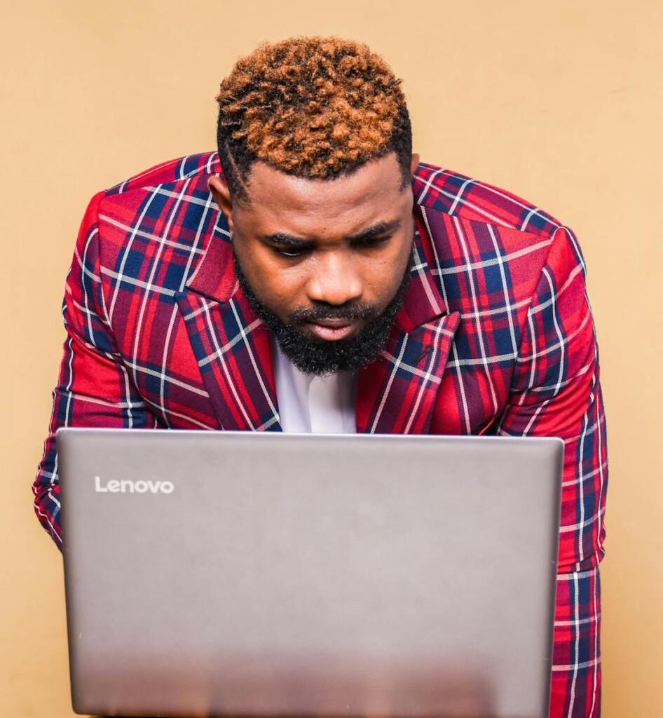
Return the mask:
<path id="1" fill-rule="evenodd" d="M 279 172 L 263 162 L 251 167 L 250 204 L 235 208 L 237 221 L 263 233 L 342 236 L 407 211 L 409 187 L 395 153 L 368 162 L 334 180 L 309 180 Z"/>

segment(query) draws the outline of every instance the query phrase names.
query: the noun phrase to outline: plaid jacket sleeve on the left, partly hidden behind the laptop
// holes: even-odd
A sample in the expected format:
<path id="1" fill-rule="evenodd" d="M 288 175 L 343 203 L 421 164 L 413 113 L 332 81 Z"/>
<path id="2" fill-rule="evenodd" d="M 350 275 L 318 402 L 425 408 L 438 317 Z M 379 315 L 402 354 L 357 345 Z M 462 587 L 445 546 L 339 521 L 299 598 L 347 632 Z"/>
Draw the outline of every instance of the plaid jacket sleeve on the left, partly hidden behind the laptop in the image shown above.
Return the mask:
<path id="1" fill-rule="evenodd" d="M 95 195 L 85 211 L 65 283 L 62 317 L 67 337 L 53 390 L 49 433 L 32 485 L 34 510 L 58 548 L 60 485 L 55 431 L 60 426 L 146 428 L 156 419 L 123 365 L 101 289 L 98 206 Z"/>

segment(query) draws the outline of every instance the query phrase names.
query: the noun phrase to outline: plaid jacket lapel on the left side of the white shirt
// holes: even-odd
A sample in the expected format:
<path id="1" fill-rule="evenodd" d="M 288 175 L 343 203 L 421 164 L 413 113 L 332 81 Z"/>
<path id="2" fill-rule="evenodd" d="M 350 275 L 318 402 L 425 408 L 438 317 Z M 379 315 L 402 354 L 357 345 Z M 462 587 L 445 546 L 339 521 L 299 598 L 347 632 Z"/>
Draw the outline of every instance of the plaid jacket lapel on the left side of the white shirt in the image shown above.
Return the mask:
<path id="1" fill-rule="evenodd" d="M 232 246 L 218 228 L 175 299 L 222 428 L 280 431 L 269 332 L 238 285 Z"/>

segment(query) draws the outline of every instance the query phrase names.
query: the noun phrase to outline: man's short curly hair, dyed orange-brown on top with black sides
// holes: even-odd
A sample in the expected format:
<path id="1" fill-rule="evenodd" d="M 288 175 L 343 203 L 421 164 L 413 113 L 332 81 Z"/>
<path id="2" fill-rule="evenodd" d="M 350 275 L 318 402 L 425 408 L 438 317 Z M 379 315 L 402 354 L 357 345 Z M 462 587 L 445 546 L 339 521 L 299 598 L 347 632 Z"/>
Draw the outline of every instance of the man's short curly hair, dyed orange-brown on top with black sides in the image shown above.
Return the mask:
<path id="1" fill-rule="evenodd" d="M 332 180 L 395 151 L 410 181 L 412 129 L 401 81 L 367 45 L 338 37 L 263 43 L 235 63 L 217 95 L 217 145 L 231 195 L 248 201 L 260 160 Z"/>

